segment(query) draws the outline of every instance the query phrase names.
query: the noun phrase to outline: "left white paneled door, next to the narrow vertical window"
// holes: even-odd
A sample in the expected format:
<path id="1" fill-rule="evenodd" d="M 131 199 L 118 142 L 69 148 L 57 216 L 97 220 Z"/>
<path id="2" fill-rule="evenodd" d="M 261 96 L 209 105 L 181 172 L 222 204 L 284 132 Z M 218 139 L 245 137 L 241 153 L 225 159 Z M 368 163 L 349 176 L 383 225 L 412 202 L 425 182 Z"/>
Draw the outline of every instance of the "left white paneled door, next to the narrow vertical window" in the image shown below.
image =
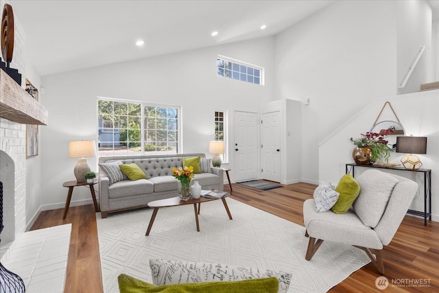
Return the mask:
<path id="1" fill-rule="evenodd" d="M 258 113 L 235 111 L 235 181 L 259 178 Z"/>

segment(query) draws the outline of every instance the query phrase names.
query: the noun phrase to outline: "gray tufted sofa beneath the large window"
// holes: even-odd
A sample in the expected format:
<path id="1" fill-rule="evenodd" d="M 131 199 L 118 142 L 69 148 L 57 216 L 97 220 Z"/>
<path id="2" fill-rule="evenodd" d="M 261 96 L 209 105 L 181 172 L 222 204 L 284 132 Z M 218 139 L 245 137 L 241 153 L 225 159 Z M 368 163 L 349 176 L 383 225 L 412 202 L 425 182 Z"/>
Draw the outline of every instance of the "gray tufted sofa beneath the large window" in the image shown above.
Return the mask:
<path id="1" fill-rule="evenodd" d="M 147 206 L 148 202 L 178 196 L 179 181 L 172 176 L 173 167 L 182 167 L 183 157 L 205 154 L 164 154 L 153 156 L 105 156 L 99 157 L 99 205 L 102 218 L 108 213 Z M 103 163 L 131 164 L 141 167 L 147 179 L 120 180 L 110 184 L 103 171 Z M 223 169 L 210 167 L 208 172 L 194 174 L 202 189 L 224 190 Z M 206 170 L 204 170 L 206 171 Z M 210 171 L 210 172 L 209 172 Z"/>

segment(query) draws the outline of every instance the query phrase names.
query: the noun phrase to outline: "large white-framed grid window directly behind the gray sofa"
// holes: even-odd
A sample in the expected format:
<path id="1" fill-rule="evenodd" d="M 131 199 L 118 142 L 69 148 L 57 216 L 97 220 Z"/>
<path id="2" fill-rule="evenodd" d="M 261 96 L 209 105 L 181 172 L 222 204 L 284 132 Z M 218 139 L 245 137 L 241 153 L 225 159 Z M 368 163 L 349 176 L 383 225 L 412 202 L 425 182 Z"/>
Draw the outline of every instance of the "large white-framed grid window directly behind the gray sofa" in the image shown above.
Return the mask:
<path id="1" fill-rule="evenodd" d="M 99 156 L 176 154 L 180 107 L 98 100 Z"/>

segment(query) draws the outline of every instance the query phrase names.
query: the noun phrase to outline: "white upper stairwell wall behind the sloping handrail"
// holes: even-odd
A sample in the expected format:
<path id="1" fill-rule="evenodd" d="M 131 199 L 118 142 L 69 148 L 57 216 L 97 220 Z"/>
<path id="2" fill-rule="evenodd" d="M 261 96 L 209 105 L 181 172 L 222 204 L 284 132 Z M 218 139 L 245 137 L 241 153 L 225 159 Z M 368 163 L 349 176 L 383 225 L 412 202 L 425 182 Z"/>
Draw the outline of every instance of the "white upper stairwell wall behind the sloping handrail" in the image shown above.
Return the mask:
<path id="1" fill-rule="evenodd" d="M 416 93 L 420 91 L 420 84 L 434 82 L 431 75 L 431 7 L 427 1 L 406 0 L 396 1 L 398 19 L 398 38 L 396 54 L 397 85 L 402 84 L 407 72 L 412 67 L 420 47 L 427 45 L 423 55 L 418 61 L 407 84 L 398 89 L 398 94 Z"/>

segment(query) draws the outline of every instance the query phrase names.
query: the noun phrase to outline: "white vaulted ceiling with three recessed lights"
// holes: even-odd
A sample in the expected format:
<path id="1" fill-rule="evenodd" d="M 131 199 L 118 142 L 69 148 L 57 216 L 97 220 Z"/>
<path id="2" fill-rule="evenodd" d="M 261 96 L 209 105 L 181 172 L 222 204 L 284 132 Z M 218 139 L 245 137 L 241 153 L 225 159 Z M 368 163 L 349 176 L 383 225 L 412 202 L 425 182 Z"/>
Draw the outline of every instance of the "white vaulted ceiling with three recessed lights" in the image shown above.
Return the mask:
<path id="1" fill-rule="evenodd" d="M 274 35 L 331 2 L 9 1 L 40 75 Z"/>

